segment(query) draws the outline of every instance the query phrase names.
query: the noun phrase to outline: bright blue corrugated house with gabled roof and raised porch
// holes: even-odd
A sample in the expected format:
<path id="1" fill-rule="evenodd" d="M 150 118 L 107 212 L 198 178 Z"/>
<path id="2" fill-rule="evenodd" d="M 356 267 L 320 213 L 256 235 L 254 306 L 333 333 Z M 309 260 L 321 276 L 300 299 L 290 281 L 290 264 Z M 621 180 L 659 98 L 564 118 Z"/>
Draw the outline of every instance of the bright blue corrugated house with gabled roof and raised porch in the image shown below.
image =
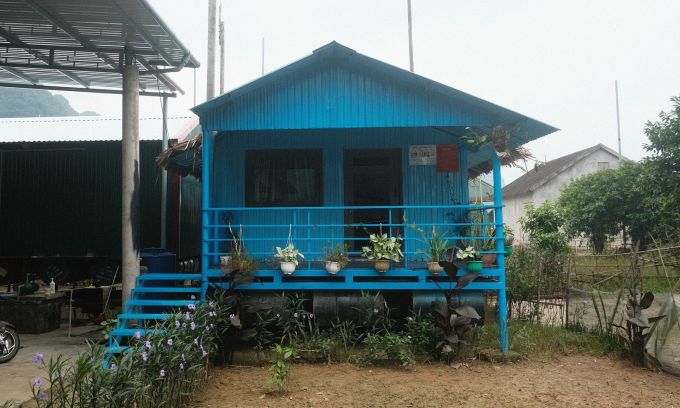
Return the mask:
<path id="1" fill-rule="evenodd" d="M 468 288 L 498 291 L 504 325 L 504 237 L 494 228 L 503 225 L 502 158 L 465 136 L 519 128 L 513 148 L 555 128 L 336 42 L 193 111 L 204 132 L 204 291 L 232 250 L 230 225 L 259 261 L 258 281 L 242 290 L 438 290 L 442 278 L 428 272 L 411 227 L 427 235 L 434 226 L 453 243 L 494 240 L 486 252 L 495 265 Z M 488 171 L 493 205 L 469 204 L 468 179 Z M 471 211 L 490 227 L 477 230 L 492 233 L 469 233 Z M 381 229 L 404 238 L 403 261 L 385 274 L 359 256 L 368 232 Z M 272 257 L 289 238 L 305 260 L 283 276 Z M 324 252 L 336 245 L 352 260 L 329 275 Z"/>

